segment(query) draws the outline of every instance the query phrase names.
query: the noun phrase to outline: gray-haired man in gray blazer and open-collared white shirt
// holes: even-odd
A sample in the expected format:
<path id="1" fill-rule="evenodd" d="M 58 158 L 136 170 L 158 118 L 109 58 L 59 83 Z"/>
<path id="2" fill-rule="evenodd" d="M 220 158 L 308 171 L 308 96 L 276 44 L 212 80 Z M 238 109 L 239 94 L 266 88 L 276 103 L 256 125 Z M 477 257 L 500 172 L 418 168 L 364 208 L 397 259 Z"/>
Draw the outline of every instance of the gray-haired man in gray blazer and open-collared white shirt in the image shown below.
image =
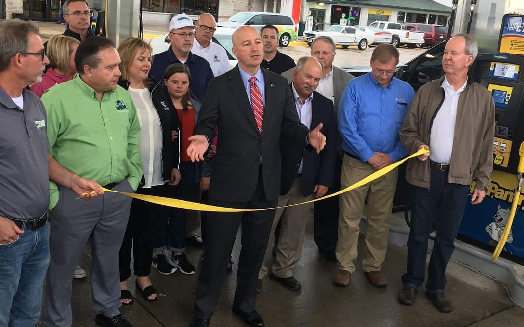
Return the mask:
<path id="1" fill-rule="evenodd" d="M 337 117 L 336 113 L 339 108 L 340 97 L 347 83 L 353 79 L 354 76 L 333 66 L 335 50 L 336 45 L 329 36 L 319 36 L 311 43 L 311 56 L 320 60 L 324 68 L 322 79 L 320 80 L 318 88 L 316 88 L 316 92 L 333 101 L 335 117 Z M 291 83 L 293 81 L 293 69 L 283 72 L 282 76 L 287 78 L 288 82 Z M 333 187 L 329 189 L 326 195 L 340 190 L 340 170 L 342 167 L 343 152 L 341 147 L 342 137 L 340 133 L 337 134 L 339 134 L 337 136 L 337 152 L 339 155 L 335 163 Z M 339 197 L 315 202 L 314 208 L 313 230 L 315 243 L 322 254 L 328 257 L 328 259 L 336 261 L 335 248 L 339 228 Z"/>

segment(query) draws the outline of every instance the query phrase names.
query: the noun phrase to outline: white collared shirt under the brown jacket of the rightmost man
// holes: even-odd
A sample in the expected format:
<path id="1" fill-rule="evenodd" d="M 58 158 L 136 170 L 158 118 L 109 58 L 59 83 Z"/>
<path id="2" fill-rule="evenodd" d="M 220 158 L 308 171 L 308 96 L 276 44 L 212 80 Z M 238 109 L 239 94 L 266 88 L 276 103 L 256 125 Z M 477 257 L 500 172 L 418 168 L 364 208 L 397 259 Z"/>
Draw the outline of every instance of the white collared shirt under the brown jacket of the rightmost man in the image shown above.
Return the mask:
<path id="1" fill-rule="evenodd" d="M 430 136 L 430 159 L 438 163 L 449 165 L 451 162 L 451 152 L 453 152 L 453 139 L 455 138 L 455 123 L 457 117 L 457 106 L 459 98 L 466 87 L 466 82 L 462 87 L 455 91 L 453 86 L 447 81 L 447 77 L 442 82 L 444 89 L 444 101 L 440 106 L 431 126 Z"/>

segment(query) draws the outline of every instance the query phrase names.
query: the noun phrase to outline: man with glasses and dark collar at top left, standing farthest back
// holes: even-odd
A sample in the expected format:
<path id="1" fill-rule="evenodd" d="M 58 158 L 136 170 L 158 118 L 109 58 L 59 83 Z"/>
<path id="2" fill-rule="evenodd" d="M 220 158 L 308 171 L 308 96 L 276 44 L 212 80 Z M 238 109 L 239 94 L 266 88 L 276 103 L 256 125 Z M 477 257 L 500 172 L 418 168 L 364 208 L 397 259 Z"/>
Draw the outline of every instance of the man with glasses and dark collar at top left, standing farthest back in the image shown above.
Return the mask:
<path id="1" fill-rule="evenodd" d="M 63 6 L 63 16 L 67 27 L 63 35 L 82 42 L 90 36 L 89 3 L 85 0 L 67 0 Z"/>

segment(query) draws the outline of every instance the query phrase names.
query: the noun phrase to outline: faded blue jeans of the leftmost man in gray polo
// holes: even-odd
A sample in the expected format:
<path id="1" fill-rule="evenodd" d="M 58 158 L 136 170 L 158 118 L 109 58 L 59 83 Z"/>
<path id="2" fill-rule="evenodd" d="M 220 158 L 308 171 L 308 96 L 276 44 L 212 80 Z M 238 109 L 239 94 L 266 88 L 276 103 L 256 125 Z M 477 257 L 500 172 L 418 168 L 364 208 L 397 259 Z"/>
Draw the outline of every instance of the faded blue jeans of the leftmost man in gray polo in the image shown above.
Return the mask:
<path id="1" fill-rule="evenodd" d="M 23 227 L 17 241 L 0 245 L 0 326 L 32 326 L 40 315 L 49 231 L 47 225 L 37 231 Z"/>

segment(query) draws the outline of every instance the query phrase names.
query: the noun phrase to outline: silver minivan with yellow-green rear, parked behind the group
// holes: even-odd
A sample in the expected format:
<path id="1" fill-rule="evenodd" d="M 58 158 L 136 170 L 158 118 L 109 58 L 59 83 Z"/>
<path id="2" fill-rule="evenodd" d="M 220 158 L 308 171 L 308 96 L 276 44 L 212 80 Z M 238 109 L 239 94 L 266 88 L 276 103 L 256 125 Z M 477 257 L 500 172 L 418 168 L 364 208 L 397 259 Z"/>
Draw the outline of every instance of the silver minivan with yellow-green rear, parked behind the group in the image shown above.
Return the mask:
<path id="1" fill-rule="evenodd" d="M 297 26 L 293 18 L 281 14 L 241 12 L 227 18 L 226 21 L 219 21 L 217 26 L 238 28 L 243 25 L 251 25 L 260 30 L 267 24 L 275 25 L 278 28 L 278 45 L 281 47 L 287 47 L 289 42 L 296 41 L 298 38 Z"/>

